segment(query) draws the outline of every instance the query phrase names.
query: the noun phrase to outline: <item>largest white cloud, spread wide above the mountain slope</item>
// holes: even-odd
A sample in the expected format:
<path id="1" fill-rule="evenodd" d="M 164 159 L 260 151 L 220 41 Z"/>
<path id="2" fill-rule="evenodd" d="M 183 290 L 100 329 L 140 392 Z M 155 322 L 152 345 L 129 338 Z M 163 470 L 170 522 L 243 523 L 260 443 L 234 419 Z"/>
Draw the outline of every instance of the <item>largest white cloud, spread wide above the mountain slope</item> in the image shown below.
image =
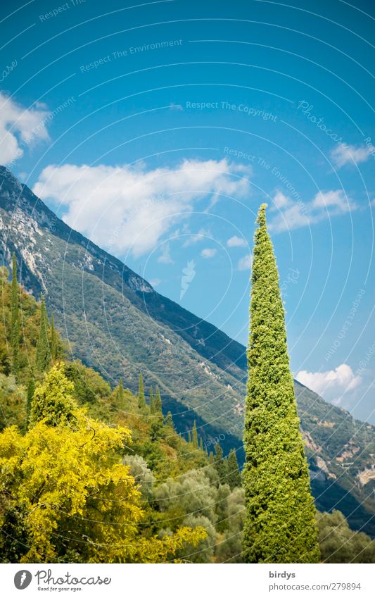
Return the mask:
<path id="1" fill-rule="evenodd" d="M 175 168 L 145 166 L 47 166 L 34 193 L 62 204 L 64 220 L 101 247 L 134 256 L 150 251 L 194 204 L 212 195 L 245 197 L 243 165 L 184 160 Z"/>

